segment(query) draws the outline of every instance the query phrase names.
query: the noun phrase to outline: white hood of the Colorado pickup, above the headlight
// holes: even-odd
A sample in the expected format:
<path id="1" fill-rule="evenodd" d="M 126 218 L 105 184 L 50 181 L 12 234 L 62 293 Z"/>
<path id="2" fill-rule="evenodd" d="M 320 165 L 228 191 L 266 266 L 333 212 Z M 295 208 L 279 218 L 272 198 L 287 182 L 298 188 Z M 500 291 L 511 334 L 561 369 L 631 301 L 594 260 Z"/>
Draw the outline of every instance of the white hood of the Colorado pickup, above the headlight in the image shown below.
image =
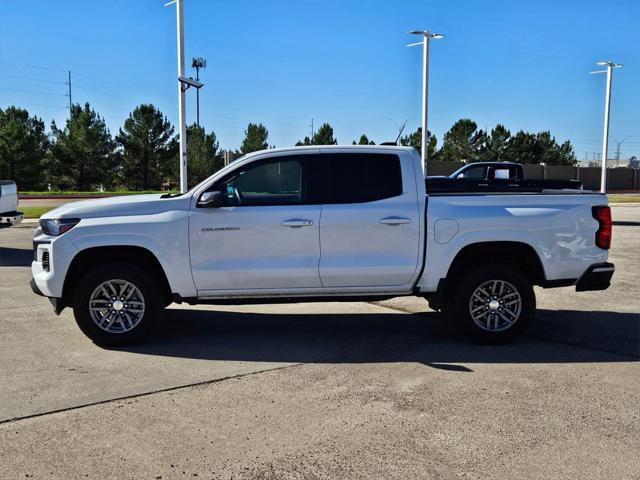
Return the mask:
<path id="1" fill-rule="evenodd" d="M 188 209 L 190 195 L 160 198 L 160 194 L 124 195 L 65 203 L 40 218 L 102 218 L 129 215 L 153 215 L 176 209 Z"/>

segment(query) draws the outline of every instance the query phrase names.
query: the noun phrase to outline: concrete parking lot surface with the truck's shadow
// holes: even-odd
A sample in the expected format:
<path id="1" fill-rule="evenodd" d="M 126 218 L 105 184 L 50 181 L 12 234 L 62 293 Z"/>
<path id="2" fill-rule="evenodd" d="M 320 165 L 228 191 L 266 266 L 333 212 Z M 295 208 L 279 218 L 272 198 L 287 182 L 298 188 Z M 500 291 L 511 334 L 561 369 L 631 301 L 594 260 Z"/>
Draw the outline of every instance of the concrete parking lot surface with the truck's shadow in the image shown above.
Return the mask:
<path id="1" fill-rule="evenodd" d="M 0 230 L 0 478 L 639 478 L 640 207 L 612 287 L 536 289 L 529 334 L 467 340 L 424 300 L 173 305 L 105 350 Z"/>

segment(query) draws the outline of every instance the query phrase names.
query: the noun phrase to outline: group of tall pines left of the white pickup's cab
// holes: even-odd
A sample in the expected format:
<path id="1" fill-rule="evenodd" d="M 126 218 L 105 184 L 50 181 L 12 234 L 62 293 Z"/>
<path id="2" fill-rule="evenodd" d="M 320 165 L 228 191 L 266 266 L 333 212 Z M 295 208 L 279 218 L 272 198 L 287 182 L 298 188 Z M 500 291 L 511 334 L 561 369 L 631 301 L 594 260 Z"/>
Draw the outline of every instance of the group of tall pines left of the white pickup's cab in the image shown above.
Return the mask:
<path id="1" fill-rule="evenodd" d="M 223 166 L 214 132 L 187 127 L 189 185 Z M 21 190 L 157 190 L 179 177 L 178 139 L 167 117 L 153 105 L 139 105 L 113 136 L 87 103 L 72 105 L 65 125 L 18 107 L 0 109 L 0 178 Z"/>

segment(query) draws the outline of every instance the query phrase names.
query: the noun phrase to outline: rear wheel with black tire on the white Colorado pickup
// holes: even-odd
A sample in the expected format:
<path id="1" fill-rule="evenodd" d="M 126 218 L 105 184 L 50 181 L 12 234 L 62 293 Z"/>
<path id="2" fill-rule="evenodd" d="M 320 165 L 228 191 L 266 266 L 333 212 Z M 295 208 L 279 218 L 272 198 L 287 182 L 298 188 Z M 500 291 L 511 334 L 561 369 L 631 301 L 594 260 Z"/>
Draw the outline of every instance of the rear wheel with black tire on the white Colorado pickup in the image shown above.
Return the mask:
<path id="1" fill-rule="evenodd" d="M 513 303 L 518 299 L 519 304 Z M 498 344 L 514 340 L 527 330 L 535 316 L 536 297 L 531 280 L 519 270 L 484 265 L 459 278 L 447 307 L 449 316 L 476 340 Z"/>

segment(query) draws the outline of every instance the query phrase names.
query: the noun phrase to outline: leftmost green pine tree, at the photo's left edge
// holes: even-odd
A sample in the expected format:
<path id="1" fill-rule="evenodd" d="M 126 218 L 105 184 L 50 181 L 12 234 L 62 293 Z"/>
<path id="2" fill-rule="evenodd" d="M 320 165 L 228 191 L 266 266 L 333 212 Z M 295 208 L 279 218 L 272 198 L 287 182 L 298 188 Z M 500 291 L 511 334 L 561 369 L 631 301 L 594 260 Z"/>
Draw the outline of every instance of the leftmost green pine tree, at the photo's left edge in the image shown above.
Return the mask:
<path id="1" fill-rule="evenodd" d="M 21 108 L 0 108 L 0 178 L 15 180 L 21 190 L 42 188 L 48 148 L 42 119 Z"/>

